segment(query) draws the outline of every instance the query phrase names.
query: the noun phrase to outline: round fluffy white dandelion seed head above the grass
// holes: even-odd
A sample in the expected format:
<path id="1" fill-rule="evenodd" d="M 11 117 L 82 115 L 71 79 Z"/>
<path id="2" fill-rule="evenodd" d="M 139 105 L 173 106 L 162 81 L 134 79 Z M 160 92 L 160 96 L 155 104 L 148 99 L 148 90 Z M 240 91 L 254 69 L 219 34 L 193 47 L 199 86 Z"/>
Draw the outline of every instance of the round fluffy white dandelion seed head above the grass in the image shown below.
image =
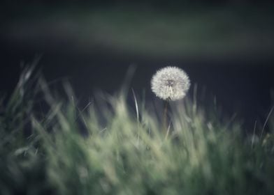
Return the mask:
<path id="1" fill-rule="evenodd" d="M 151 80 L 152 92 L 163 100 L 180 100 L 185 97 L 189 87 L 187 73 L 177 67 L 162 68 Z"/>

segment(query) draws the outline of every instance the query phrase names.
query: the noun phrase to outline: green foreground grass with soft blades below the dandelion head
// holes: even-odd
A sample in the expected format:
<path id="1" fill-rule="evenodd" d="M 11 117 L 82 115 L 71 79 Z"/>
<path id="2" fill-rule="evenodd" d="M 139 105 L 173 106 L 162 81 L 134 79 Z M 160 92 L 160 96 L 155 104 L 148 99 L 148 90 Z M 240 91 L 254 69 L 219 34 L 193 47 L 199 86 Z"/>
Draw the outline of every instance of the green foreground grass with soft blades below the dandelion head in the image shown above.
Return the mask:
<path id="1" fill-rule="evenodd" d="M 274 193 L 273 116 L 249 139 L 186 99 L 171 104 L 166 136 L 161 107 L 135 93 L 130 107 L 126 88 L 80 110 L 69 86 L 55 98 L 32 71 L 1 103 L 0 194 Z"/>

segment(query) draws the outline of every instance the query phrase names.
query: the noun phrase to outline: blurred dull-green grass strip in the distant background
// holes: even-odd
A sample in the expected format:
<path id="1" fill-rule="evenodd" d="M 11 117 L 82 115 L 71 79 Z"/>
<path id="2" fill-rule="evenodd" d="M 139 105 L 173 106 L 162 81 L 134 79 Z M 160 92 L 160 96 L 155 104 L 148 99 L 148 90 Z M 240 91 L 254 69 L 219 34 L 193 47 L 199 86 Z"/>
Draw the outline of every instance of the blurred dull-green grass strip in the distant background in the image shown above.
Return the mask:
<path id="1" fill-rule="evenodd" d="M 6 20 L 1 36 L 57 53 L 99 50 L 194 59 L 273 56 L 273 12 L 267 7 L 31 9 Z"/>

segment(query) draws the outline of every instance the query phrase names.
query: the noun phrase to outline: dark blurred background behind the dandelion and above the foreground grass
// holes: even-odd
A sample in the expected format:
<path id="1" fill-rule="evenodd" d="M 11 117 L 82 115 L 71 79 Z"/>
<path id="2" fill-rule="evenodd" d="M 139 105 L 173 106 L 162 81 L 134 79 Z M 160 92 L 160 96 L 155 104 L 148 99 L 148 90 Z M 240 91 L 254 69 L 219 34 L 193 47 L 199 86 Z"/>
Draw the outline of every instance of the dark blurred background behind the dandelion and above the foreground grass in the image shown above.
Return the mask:
<path id="1" fill-rule="evenodd" d="M 151 100 L 154 72 L 176 65 L 249 127 L 273 105 L 272 1 L 2 0 L 0 7 L 0 91 L 7 94 L 20 63 L 41 55 L 45 78 L 69 79 L 83 104 L 96 89 L 117 91 L 130 65 L 131 86 Z"/>

